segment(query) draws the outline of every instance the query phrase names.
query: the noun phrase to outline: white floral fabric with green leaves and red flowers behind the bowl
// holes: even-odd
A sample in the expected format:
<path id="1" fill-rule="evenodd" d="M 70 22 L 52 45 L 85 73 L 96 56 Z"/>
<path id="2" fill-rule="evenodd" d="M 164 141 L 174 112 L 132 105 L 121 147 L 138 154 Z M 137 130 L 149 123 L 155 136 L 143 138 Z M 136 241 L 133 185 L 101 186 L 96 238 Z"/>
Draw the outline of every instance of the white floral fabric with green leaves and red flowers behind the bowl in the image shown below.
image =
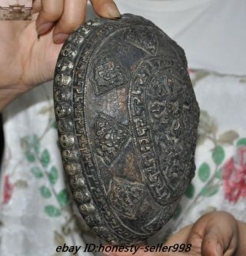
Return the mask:
<path id="1" fill-rule="evenodd" d="M 246 221 L 245 77 L 194 70 L 190 75 L 201 108 L 196 175 L 175 216 L 150 244 L 165 241 L 208 211 L 229 211 Z M 52 83 L 18 98 L 4 114 L 0 254 L 58 256 L 58 245 L 99 242 L 65 185 Z"/>

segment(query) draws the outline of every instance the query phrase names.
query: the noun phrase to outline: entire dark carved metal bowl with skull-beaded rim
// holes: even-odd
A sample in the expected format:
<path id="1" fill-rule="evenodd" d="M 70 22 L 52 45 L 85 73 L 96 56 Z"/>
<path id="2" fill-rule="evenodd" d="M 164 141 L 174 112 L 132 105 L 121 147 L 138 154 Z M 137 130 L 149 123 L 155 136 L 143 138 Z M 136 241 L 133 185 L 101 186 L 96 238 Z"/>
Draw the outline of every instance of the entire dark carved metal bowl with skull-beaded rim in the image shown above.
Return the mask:
<path id="1" fill-rule="evenodd" d="M 87 224 L 111 244 L 155 234 L 194 176 L 199 108 L 183 49 L 139 16 L 87 22 L 62 47 L 54 99 Z"/>

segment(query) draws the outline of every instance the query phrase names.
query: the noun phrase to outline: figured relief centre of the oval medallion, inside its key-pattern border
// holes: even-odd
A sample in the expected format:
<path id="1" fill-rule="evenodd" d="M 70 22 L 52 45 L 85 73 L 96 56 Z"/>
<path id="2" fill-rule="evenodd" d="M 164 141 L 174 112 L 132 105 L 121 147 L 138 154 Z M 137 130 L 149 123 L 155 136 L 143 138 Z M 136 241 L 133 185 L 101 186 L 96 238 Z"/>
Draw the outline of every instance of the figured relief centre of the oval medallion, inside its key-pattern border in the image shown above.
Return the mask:
<path id="1" fill-rule="evenodd" d="M 150 81 L 148 102 L 151 106 L 149 115 L 153 132 L 165 131 L 160 136 L 155 136 L 155 145 L 160 155 L 160 168 L 165 173 L 173 197 L 178 195 L 178 188 L 183 188 L 187 177 L 189 158 L 191 158 L 191 131 L 193 114 L 187 111 L 188 95 L 186 85 L 182 84 L 181 71 L 161 71 Z M 157 92 L 159 92 L 157 94 Z M 165 101 L 161 104 L 162 93 Z M 180 97 L 180 94 L 183 97 Z M 186 102 L 186 105 L 184 105 Z M 170 168 L 168 168 L 168 166 Z"/>

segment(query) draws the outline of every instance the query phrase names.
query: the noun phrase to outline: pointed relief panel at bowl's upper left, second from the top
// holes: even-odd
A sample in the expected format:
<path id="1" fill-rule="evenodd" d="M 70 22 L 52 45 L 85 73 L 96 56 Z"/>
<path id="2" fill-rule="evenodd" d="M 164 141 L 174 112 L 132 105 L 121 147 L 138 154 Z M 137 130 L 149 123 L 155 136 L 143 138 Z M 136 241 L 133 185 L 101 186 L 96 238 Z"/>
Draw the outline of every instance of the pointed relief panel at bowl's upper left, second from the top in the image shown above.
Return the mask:
<path id="1" fill-rule="evenodd" d="M 95 60 L 93 81 L 95 94 L 101 95 L 112 88 L 125 85 L 127 77 L 121 64 L 104 52 Z"/>

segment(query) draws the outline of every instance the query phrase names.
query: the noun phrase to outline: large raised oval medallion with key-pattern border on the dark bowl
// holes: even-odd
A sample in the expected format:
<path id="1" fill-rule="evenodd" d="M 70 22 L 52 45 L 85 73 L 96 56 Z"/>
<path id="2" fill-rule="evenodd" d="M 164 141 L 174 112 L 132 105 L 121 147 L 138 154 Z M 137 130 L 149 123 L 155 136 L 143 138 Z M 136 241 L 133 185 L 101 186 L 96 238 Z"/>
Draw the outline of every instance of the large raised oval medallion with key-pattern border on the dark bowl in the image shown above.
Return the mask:
<path id="1" fill-rule="evenodd" d="M 163 205 L 184 192 L 191 171 L 187 163 L 192 161 L 196 135 L 191 121 L 194 107 L 191 101 L 188 103 L 192 93 L 187 98 L 180 97 L 184 91 L 191 91 L 185 72 L 178 62 L 166 56 L 151 58 L 137 68 L 128 93 L 131 131 L 146 184 Z M 178 77 L 187 79 L 181 84 Z M 184 134 L 185 131 L 188 132 Z"/>

